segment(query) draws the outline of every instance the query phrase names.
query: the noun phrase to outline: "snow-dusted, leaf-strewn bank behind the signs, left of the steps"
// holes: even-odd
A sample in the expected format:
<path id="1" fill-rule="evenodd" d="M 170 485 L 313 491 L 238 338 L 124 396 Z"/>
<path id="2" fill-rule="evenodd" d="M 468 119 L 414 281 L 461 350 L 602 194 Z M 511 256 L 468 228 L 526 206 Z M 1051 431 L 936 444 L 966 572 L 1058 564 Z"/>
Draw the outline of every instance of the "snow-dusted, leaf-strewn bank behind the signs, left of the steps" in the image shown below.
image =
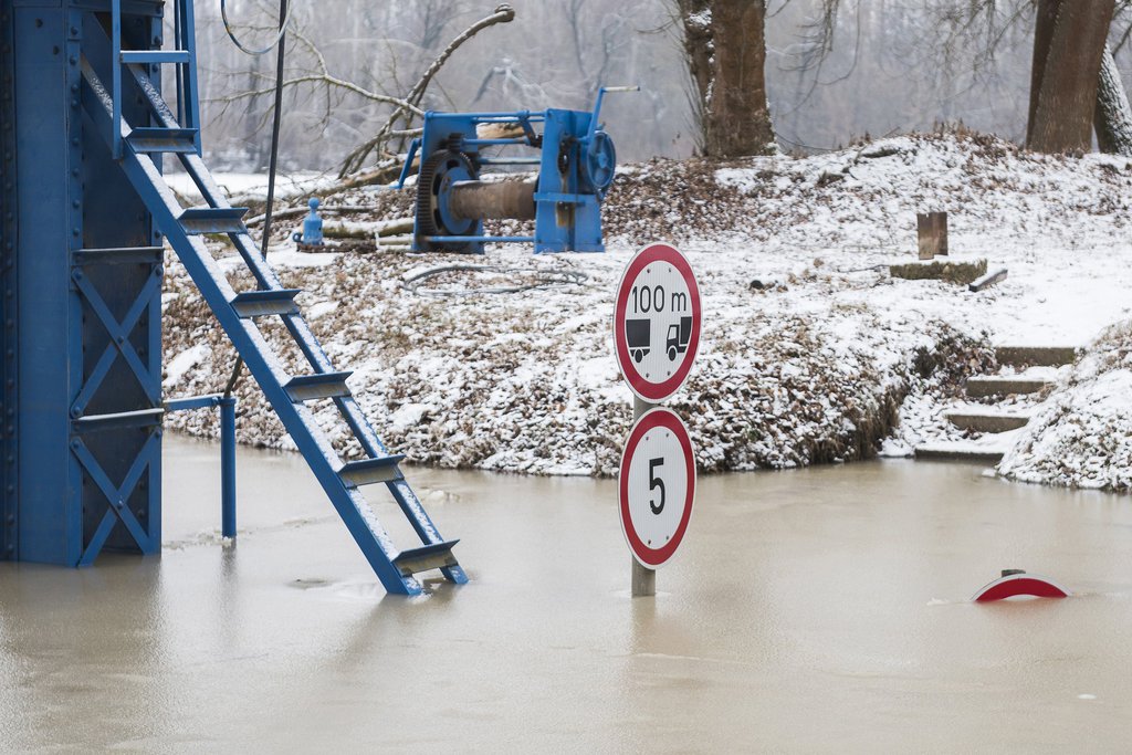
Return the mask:
<path id="1" fill-rule="evenodd" d="M 324 205 L 372 206 L 343 220 L 377 223 L 405 216 L 408 194 L 352 190 Z M 629 166 L 604 207 L 606 255 L 303 255 L 283 240 L 289 226 L 271 260 L 305 290 L 312 328 L 354 370 L 350 386 L 391 447 L 448 466 L 608 474 L 632 415 L 608 345 L 612 290 L 636 248 L 676 242 L 705 307 L 697 367 L 671 402 L 697 461 L 710 471 L 786 467 L 872 455 L 906 396 L 902 437 L 945 434 L 940 407 L 990 366 L 992 342 L 1084 343 L 1127 317 L 1132 249 L 1114 240 L 1130 197 L 1123 160 L 1030 155 L 983 136 L 901 137 L 804 160 Z M 890 278 L 889 263 L 915 256 L 915 214 L 928 209 L 951 213 L 953 255 L 990 257 L 1010 278 L 981 293 Z M 216 255 L 238 289 L 250 288 L 231 249 L 216 244 Z M 405 275 L 452 261 L 495 271 L 447 273 L 422 289 L 548 271 L 588 277 L 511 294 L 402 288 Z M 231 348 L 183 269 L 171 260 L 169 272 L 166 393 L 217 391 Z M 290 446 L 249 379 L 238 393 L 241 440 Z M 316 411 L 346 454 L 359 453 L 333 406 Z M 209 414 L 169 422 L 214 435 Z"/>

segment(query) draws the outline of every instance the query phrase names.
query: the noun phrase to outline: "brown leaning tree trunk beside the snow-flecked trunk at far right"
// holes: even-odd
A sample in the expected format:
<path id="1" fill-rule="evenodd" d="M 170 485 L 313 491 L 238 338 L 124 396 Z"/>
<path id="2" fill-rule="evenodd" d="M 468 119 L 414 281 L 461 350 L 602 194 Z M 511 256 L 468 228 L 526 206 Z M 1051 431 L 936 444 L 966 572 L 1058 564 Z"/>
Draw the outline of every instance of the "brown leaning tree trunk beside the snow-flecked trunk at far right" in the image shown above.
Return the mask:
<path id="1" fill-rule="evenodd" d="M 1027 146 L 1038 152 L 1088 152 L 1092 146 L 1092 119 L 1097 100 L 1100 59 L 1113 19 L 1115 0 L 1056 0 L 1053 28 L 1045 54 L 1038 46 L 1049 12 L 1039 2 L 1035 33 L 1034 80 L 1040 80 L 1027 129 Z M 1044 61 L 1038 70 L 1038 61 Z"/>

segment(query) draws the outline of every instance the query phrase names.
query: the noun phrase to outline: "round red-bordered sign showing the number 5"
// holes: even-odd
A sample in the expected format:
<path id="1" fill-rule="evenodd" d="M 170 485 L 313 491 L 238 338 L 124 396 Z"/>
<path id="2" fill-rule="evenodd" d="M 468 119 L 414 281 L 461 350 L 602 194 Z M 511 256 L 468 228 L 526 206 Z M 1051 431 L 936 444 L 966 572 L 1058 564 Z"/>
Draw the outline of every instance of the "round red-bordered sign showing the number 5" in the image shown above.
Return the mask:
<path id="1" fill-rule="evenodd" d="M 680 418 L 667 409 L 641 415 L 621 454 L 621 530 L 633 557 L 651 569 L 676 552 L 692 518 L 696 464 Z"/>

